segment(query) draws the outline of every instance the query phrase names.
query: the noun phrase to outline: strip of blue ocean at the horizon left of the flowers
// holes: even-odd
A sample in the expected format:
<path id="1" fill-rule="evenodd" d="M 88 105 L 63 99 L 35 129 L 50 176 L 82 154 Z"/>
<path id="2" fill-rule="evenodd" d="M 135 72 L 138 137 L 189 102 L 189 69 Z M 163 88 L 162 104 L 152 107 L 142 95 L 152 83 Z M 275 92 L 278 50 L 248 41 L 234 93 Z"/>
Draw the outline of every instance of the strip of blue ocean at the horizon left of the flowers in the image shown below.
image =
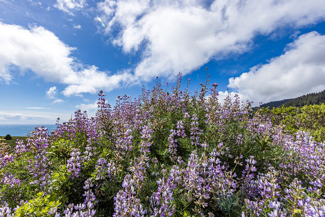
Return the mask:
<path id="1" fill-rule="evenodd" d="M 15 125 L 1 125 L 0 124 L 0 136 L 6 136 L 10 134 L 10 136 L 26 136 L 26 134 L 35 129 L 35 126 L 45 126 L 50 134 L 51 131 L 57 128 L 55 124 L 15 124 Z"/>

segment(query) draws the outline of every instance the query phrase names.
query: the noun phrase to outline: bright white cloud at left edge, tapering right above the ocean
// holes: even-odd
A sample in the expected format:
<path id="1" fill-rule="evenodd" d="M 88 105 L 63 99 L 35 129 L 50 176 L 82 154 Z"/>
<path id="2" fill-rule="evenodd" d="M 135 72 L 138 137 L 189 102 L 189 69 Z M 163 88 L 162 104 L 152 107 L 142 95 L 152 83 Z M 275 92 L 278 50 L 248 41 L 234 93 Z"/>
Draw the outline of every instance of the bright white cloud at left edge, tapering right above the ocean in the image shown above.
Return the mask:
<path id="1" fill-rule="evenodd" d="M 69 47 L 43 27 L 25 29 L 0 22 L 0 47 L 2 82 L 12 80 L 10 69 L 13 66 L 19 66 L 21 71 L 31 69 L 46 81 L 66 84 L 62 92 L 66 96 L 95 93 L 98 89 L 110 91 L 122 82 L 134 81 L 134 76 L 128 71 L 110 75 L 94 65 L 81 63 L 72 56 L 75 47 Z"/>

